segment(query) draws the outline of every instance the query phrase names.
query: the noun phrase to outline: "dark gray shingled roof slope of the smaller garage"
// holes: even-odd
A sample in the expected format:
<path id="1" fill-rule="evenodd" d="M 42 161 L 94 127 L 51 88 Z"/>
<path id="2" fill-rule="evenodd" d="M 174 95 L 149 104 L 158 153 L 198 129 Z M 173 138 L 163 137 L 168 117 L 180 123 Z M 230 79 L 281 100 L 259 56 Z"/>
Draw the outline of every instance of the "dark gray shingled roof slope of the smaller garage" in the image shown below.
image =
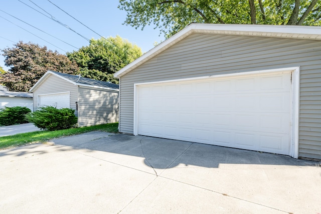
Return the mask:
<path id="1" fill-rule="evenodd" d="M 51 72 L 55 73 L 59 76 L 62 76 L 65 79 L 68 79 L 74 83 L 85 84 L 85 85 L 90 85 L 90 86 L 99 86 L 99 87 L 104 87 L 104 88 L 119 89 L 119 85 L 114 84 L 114 83 L 93 80 L 93 79 L 86 78 L 86 77 L 80 77 L 80 79 L 79 79 L 79 76 L 77 76 L 77 75 L 64 74 L 64 73 L 55 72 L 55 71 L 51 71 Z M 79 79 L 79 81 L 78 81 L 78 79 Z"/>

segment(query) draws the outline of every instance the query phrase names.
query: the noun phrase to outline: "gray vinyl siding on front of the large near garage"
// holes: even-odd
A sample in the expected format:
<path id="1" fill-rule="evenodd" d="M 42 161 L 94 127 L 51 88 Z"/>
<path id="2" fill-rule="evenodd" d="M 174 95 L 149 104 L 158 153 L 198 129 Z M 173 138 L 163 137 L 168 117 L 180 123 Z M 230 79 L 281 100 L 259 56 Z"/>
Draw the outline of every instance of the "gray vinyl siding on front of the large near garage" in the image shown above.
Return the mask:
<path id="1" fill-rule="evenodd" d="M 192 34 L 121 77 L 119 131 L 133 133 L 134 83 L 300 66 L 299 157 L 321 159 L 321 41 Z"/>

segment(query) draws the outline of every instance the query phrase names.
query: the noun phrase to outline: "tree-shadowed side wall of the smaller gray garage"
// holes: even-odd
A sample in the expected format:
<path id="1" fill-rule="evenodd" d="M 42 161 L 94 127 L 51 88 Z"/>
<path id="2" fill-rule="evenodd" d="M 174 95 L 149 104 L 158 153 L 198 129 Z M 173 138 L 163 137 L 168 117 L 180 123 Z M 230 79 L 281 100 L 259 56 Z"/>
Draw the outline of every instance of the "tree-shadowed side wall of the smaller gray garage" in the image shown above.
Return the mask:
<path id="1" fill-rule="evenodd" d="M 118 122 L 118 91 L 79 87 L 78 126 Z"/>

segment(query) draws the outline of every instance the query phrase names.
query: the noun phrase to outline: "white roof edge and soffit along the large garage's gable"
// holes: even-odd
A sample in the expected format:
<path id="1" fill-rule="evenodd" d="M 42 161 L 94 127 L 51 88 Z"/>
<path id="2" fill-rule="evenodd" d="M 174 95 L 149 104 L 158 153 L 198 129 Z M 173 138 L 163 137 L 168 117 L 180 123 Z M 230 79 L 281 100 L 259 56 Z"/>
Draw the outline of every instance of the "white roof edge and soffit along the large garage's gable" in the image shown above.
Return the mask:
<path id="1" fill-rule="evenodd" d="M 129 73 L 147 60 L 165 51 L 166 49 L 170 48 L 192 33 L 321 40 L 321 27 L 319 26 L 229 25 L 192 23 L 174 36 L 165 40 L 163 43 L 149 50 L 141 57 L 137 58 L 127 66 L 114 73 L 114 77 L 120 78 L 121 76 Z"/>

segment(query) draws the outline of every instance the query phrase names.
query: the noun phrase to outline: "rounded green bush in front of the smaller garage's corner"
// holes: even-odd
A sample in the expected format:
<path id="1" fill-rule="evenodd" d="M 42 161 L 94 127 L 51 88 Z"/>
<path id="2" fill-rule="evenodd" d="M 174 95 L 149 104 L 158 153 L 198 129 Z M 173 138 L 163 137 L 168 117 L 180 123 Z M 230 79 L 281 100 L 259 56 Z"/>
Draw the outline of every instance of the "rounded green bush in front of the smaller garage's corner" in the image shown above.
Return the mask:
<path id="1" fill-rule="evenodd" d="M 75 110 L 70 108 L 57 109 L 53 106 L 45 106 L 27 114 L 26 118 L 38 128 L 49 131 L 68 129 L 77 124 Z"/>

